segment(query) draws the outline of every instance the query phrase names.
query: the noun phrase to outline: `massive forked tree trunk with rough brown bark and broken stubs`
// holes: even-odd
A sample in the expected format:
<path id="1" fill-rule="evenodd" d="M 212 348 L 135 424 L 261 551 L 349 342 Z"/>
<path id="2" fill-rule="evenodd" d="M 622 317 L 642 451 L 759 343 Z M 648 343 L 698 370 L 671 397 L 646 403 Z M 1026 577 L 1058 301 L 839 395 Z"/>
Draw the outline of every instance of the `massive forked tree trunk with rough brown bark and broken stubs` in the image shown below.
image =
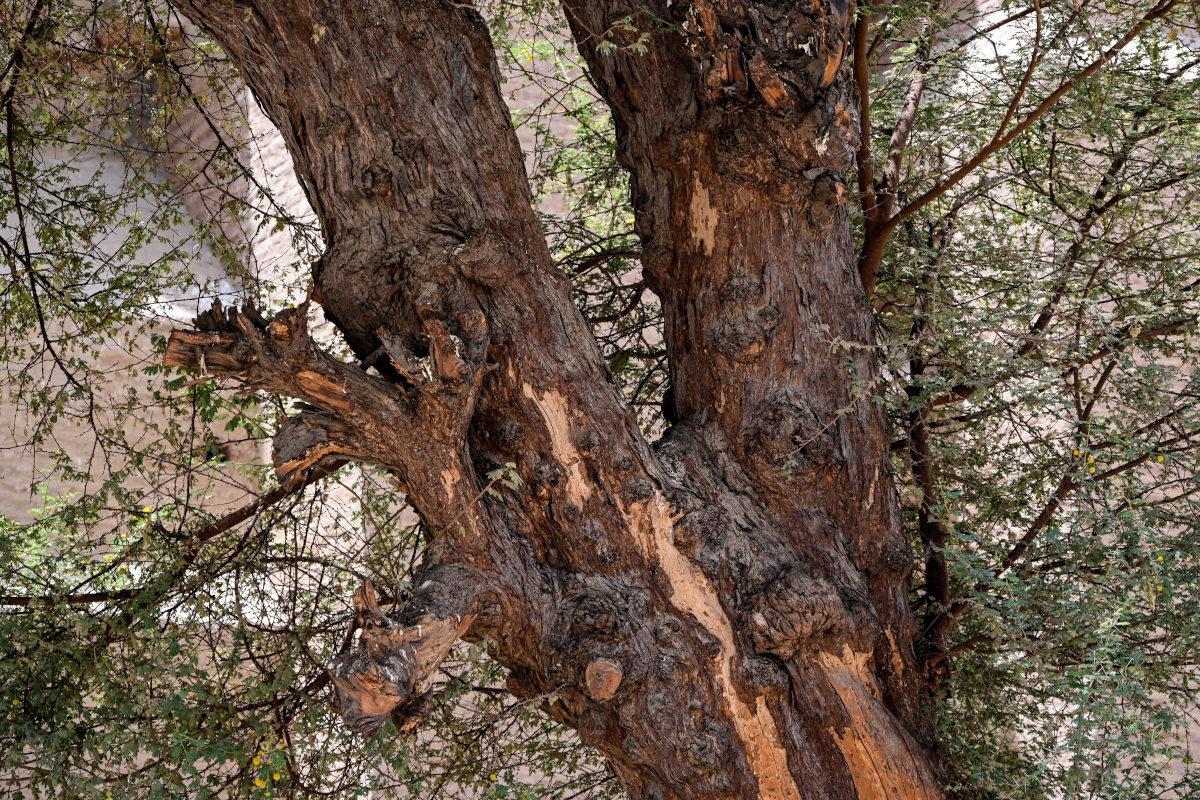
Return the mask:
<path id="1" fill-rule="evenodd" d="M 373 462 L 421 513 L 413 602 L 364 591 L 334 668 L 349 723 L 418 724 L 437 661 L 486 636 L 634 798 L 941 798 L 844 205 L 853 6 L 565 5 L 666 311 L 660 443 L 552 265 L 484 22 L 445 0 L 184 2 L 287 140 L 314 299 L 362 363 L 307 303 L 217 308 L 167 362 L 304 399 L 284 480 Z M 476 499 L 509 461 L 523 486 Z"/>

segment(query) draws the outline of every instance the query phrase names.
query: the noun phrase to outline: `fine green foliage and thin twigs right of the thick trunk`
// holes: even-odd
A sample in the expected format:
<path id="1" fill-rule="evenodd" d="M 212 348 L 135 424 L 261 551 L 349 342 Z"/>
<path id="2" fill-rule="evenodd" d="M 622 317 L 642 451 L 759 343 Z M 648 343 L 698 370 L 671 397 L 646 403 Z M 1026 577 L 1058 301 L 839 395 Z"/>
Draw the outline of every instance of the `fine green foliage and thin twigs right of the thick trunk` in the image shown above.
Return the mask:
<path id="1" fill-rule="evenodd" d="M 916 37 L 889 53 L 872 84 L 876 154 L 918 65 L 926 80 L 900 204 L 994 136 L 1034 47 L 1010 125 L 1148 7 L 1004 4 L 995 20 L 1013 18 L 967 47 L 923 58 Z M 962 38 L 950 7 L 876 12 L 877 25 Z M 1180 24 L 1148 28 L 907 219 L 881 269 L 877 393 L 922 557 L 913 606 L 926 625 L 959 615 L 937 718 L 971 796 L 1200 788 L 1184 744 L 1200 652 L 1200 62 L 1171 35 Z M 906 438 L 918 422 L 931 487 Z M 946 536 L 948 607 L 924 588 L 923 497 Z"/>

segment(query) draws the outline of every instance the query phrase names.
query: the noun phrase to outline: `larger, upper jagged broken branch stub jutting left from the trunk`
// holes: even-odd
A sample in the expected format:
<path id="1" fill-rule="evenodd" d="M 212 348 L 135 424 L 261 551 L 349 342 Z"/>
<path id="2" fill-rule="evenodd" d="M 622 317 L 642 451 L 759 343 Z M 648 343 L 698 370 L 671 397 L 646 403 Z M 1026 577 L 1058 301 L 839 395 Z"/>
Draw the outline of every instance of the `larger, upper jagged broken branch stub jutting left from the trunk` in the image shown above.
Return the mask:
<path id="1" fill-rule="evenodd" d="M 272 461 L 286 486 L 330 461 L 373 462 L 406 475 L 410 462 L 457 458 L 484 369 L 460 357 L 432 309 L 422 315 L 433 343 L 428 359 L 409 354 L 398 337 L 383 338 L 412 391 L 324 353 L 308 335 L 307 311 L 305 302 L 268 320 L 252 305 L 239 311 L 214 302 L 196 318 L 197 330 L 172 332 L 162 362 L 302 401 L 275 435 Z M 413 441 L 422 443 L 420 452 Z"/>

